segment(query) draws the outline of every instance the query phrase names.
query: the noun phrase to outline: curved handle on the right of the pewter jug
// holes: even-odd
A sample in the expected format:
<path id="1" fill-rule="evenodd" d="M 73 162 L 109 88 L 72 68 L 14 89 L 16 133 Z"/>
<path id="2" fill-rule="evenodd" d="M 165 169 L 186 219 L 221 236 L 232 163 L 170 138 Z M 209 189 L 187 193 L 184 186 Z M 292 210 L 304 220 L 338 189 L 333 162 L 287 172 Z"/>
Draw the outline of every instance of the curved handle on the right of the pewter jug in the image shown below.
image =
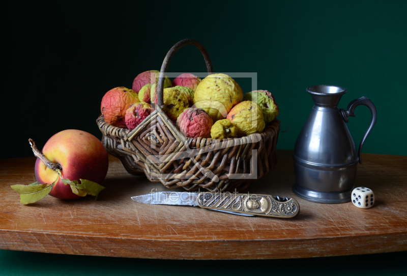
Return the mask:
<path id="1" fill-rule="evenodd" d="M 349 121 L 349 117 L 355 117 L 355 108 L 358 105 L 366 105 L 367 107 L 369 107 L 370 112 L 372 114 L 372 119 L 370 121 L 370 125 L 369 128 L 367 129 L 365 135 L 362 138 L 362 141 L 360 142 L 359 145 L 359 151 L 358 151 L 358 157 L 359 157 L 359 163 L 362 163 L 362 147 L 363 147 L 363 143 L 365 143 L 365 140 L 367 138 L 367 136 L 369 135 L 370 131 L 372 130 L 374 124 L 376 123 L 376 119 L 377 119 L 377 112 L 376 112 L 376 107 L 374 106 L 373 102 L 366 97 L 361 97 L 359 99 L 353 100 L 351 101 L 348 105 L 346 110 L 344 109 L 340 109 L 343 119 L 345 120 L 345 122 L 347 123 Z"/>

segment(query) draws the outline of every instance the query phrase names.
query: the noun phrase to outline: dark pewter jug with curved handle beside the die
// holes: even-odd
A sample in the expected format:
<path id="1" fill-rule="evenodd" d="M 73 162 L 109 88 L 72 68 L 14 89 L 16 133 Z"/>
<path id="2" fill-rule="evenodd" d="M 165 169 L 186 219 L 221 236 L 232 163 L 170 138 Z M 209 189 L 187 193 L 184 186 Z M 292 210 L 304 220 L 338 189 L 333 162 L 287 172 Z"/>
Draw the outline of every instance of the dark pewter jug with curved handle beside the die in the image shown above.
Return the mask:
<path id="1" fill-rule="evenodd" d="M 376 108 L 368 98 L 361 97 L 349 103 L 346 110 L 339 109 L 339 100 L 347 91 L 342 87 L 319 85 L 306 91 L 311 94 L 314 106 L 294 148 L 293 191 L 313 202 L 350 201 L 357 164 L 362 163 L 362 146 L 376 122 Z M 366 105 L 372 118 L 357 151 L 346 123 L 350 116 L 355 116 L 358 105 Z"/>

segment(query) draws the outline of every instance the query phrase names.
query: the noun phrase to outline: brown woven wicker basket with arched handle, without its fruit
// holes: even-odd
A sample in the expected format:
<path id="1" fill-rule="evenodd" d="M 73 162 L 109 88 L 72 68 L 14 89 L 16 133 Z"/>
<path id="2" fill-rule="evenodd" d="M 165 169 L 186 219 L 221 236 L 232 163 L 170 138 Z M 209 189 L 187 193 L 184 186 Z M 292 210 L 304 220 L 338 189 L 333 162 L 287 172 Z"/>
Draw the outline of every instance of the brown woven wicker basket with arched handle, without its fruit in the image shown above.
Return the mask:
<path id="1" fill-rule="evenodd" d="M 127 172 L 146 175 L 167 188 L 242 191 L 274 169 L 280 122 L 275 119 L 261 133 L 234 139 L 187 138 L 181 134 L 160 107 L 169 61 L 188 44 L 201 51 L 208 74 L 212 74 L 208 52 L 198 41 L 185 39 L 175 44 L 160 70 L 155 111 L 133 130 L 111 126 L 100 116 L 97 124 L 103 134 L 102 142 Z"/>

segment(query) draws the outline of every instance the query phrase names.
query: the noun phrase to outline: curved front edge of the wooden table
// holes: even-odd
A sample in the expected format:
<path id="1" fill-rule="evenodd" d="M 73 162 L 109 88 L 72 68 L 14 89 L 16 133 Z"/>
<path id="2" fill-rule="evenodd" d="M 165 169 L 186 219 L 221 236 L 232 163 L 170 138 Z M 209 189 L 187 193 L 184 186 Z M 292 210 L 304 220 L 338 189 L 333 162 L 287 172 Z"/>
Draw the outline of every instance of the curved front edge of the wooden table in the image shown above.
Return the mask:
<path id="1" fill-rule="evenodd" d="M 407 251 L 407 232 L 259 240 L 169 240 L 134 237 L 101 239 L 97 235 L 1 230 L 0 249 L 145 259 L 288 259 Z"/>

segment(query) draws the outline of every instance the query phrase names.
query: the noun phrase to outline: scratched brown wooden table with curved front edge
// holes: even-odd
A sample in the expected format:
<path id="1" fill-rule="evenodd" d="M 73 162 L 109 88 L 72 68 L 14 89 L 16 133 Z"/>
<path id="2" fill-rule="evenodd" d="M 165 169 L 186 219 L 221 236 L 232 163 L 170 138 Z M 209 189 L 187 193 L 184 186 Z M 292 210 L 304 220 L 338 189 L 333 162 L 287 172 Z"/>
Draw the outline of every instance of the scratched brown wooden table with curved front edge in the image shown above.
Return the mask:
<path id="1" fill-rule="evenodd" d="M 10 188 L 35 182 L 34 157 L 0 160 L 0 249 L 159 259 L 274 259 L 407 250 L 407 156 L 363 154 L 357 186 L 371 188 L 370 209 L 319 204 L 295 196 L 292 151 L 278 151 L 274 171 L 253 194 L 293 197 L 295 218 L 245 217 L 198 207 L 147 205 L 130 197 L 164 191 L 129 175 L 110 156 L 98 201 L 47 196 L 25 206 Z M 183 191 L 183 189 L 176 189 Z"/>

